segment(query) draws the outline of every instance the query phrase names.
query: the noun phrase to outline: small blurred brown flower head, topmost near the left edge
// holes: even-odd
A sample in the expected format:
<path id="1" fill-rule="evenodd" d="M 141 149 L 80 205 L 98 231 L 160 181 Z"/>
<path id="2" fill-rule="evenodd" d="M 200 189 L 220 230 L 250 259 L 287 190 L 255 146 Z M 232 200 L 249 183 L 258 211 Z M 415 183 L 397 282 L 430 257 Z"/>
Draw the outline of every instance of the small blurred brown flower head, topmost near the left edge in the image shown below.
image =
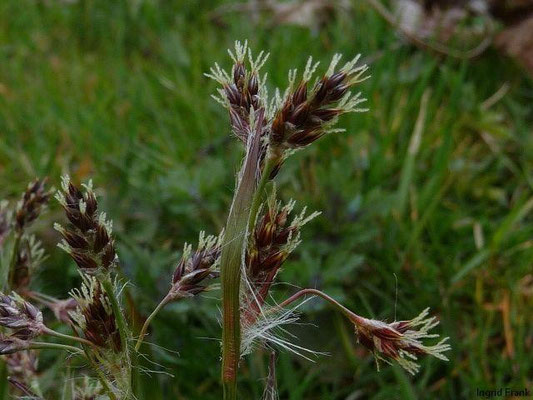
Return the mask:
<path id="1" fill-rule="evenodd" d="M 36 179 L 28 185 L 15 211 L 15 229 L 22 232 L 31 224 L 50 199 L 50 192 L 46 191 L 46 179 Z"/>

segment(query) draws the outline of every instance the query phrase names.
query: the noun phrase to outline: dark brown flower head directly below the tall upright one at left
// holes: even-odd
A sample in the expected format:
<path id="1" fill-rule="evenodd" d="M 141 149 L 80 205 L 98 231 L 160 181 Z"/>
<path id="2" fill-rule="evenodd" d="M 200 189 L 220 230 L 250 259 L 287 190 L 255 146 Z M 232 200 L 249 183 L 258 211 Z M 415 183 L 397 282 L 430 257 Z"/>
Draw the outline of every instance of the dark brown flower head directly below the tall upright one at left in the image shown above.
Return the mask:
<path id="1" fill-rule="evenodd" d="M 94 276 L 83 273 L 81 276 L 81 289 L 71 291 L 78 304 L 76 310 L 70 312 L 74 327 L 95 345 L 120 353 L 120 334 L 109 298 Z"/>

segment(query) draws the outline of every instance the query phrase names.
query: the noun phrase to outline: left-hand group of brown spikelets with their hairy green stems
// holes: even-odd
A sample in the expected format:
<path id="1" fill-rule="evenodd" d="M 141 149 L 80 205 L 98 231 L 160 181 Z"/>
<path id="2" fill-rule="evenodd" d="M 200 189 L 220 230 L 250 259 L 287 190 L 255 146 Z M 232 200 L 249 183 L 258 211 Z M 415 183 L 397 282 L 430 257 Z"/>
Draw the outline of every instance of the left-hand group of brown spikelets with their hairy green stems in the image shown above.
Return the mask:
<path id="1" fill-rule="evenodd" d="M 113 307 L 113 304 L 118 304 L 115 298 L 118 290 L 112 275 L 117 257 L 111 224 L 106 221 L 105 214 L 98 213 L 91 184 L 85 185 L 82 191 L 64 177 L 62 190 L 57 192 L 56 198 L 63 206 L 69 224 L 67 228 L 56 224 L 56 229 L 63 236 L 59 247 L 79 267 L 82 286 L 74 289 L 72 297 L 67 300 L 34 292 L 29 288 L 31 273 L 28 265 L 42 260 L 42 250 L 33 237 L 26 239 L 26 230 L 39 216 L 49 197 L 45 182 L 36 181 L 28 186 L 12 216 L 5 217 L 12 220 L 7 226 L 14 233 L 12 262 L 9 265 L 9 275 L 13 278 L 6 289 L 17 292 L 0 295 L 0 325 L 9 329 L 9 334 L 3 335 L 0 341 L 0 353 L 11 354 L 7 358 L 7 366 L 15 392 L 35 398 L 40 396 L 35 379 L 14 377 L 10 366 L 15 365 L 14 360 L 20 357 L 14 358 L 13 354 L 31 350 L 27 354 L 36 359 L 34 349 L 55 348 L 82 355 L 97 370 L 108 396 L 118 398 L 130 392 L 131 385 L 128 344 L 118 328 L 123 315 L 117 314 L 123 311 L 119 306 Z M 29 300 L 49 307 L 59 321 L 70 326 L 74 335 L 56 332 L 46 326 L 42 312 Z M 81 347 L 38 341 L 47 335 L 78 343 Z"/>

